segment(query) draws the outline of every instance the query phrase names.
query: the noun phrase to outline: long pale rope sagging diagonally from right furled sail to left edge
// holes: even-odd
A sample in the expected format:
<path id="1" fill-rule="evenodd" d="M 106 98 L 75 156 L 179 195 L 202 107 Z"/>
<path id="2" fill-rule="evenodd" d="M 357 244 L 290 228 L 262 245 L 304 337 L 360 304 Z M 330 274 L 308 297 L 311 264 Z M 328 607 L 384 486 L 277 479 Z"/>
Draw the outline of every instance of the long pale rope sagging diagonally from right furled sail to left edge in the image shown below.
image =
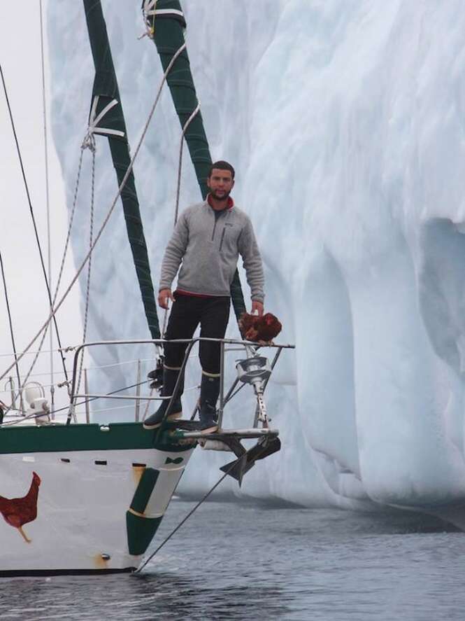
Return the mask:
<path id="1" fill-rule="evenodd" d="M 182 46 L 180 46 L 180 48 L 178 48 L 178 50 L 176 51 L 176 53 L 173 55 L 173 58 L 171 59 L 168 67 L 166 67 L 166 71 L 164 72 L 163 78 L 162 78 L 162 83 L 159 86 L 159 90 L 157 92 L 157 96 L 155 97 L 155 102 L 152 105 L 152 109 L 150 110 L 150 114 L 148 116 L 148 120 L 145 123 L 145 126 L 143 128 L 143 132 L 141 135 L 141 139 L 138 141 L 137 147 L 136 147 L 136 151 L 134 151 L 134 155 L 131 159 L 131 162 L 129 162 L 129 166 L 127 167 L 127 171 L 124 174 L 124 177 L 122 179 L 122 182 L 120 183 L 120 187 L 118 188 L 117 194 L 115 196 L 115 198 L 113 199 L 113 202 L 110 205 L 110 209 L 108 209 L 108 213 L 105 216 L 105 219 L 103 220 L 103 223 L 101 225 L 101 228 L 99 229 L 99 232 L 97 232 L 94 242 L 92 243 L 92 247 L 90 248 L 89 252 L 87 253 L 87 255 L 85 256 L 83 263 L 81 263 L 78 271 L 76 272 L 75 276 L 73 277 L 73 279 L 71 280 L 71 283 L 69 284 L 69 286 L 66 288 L 66 291 L 64 292 L 64 294 L 62 295 L 62 298 L 60 298 L 59 302 L 57 303 L 57 305 L 52 309 L 52 312 L 50 312 L 50 315 L 48 316 L 48 319 L 45 321 L 45 323 L 43 324 L 43 326 L 41 326 L 40 330 L 38 330 L 38 333 L 36 333 L 36 335 L 34 336 L 34 338 L 29 342 L 29 344 L 27 345 L 27 347 L 24 348 L 24 350 L 22 351 L 22 353 L 20 354 L 20 356 L 18 356 L 17 360 L 20 361 L 21 358 L 24 356 L 24 354 L 26 354 L 27 351 L 29 351 L 29 349 L 32 347 L 32 345 L 36 342 L 36 340 L 38 339 L 38 337 L 43 333 L 43 330 L 45 330 L 45 328 L 47 328 L 48 324 L 50 323 L 50 321 L 52 321 L 53 317 L 55 316 L 55 314 L 57 314 L 57 311 L 59 310 L 59 308 L 62 306 L 64 300 L 66 300 L 67 295 L 69 294 L 69 292 L 71 291 L 71 288 L 74 286 L 74 284 L 76 283 L 76 281 L 78 280 L 80 273 L 83 271 L 87 261 L 90 258 L 90 255 L 92 254 L 92 251 L 94 250 L 96 244 L 99 242 L 99 239 L 101 237 L 101 234 L 103 233 L 103 230 L 105 229 L 108 220 L 110 219 L 111 214 L 113 214 L 113 209 L 115 209 L 115 205 L 118 201 L 118 199 L 120 198 L 120 195 L 122 193 L 122 189 L 124 188 L 124 186 L 126 185 L 127 179 L 129 177 L 129 175 L 132 172 L 132 169 L 134 167 L 134 161 L 137 158 L 138 152 L 141 148 L 141 144 L 143 142 L 143 139 L 145 138 L 145 134 L 147 133 L 148 130 L 148 126 L 150 125 L 150 121 L 152 120 L 152 116 L 153 113 L 155 112 L 155 108 L 157 107 L 157 104 L 159 102 L 160 96 L 162 95 L 162 88 L 164 86 L 164 83 L 166 82 L 166 77 L 168 76 L 169 72 L 171 71 L 171 68 L 173 67 L 173 64 L 176 62 L 176 60 L 178 60 L 178 56 L 183 53 L 183 51 L 186 48 L 186 43 L 183 43 Z M 14 367 L 15 363 L 13 363 L 12 365 L 10 365 L 4 372 L 3 374 L 0 376 L 0 379 L 3 379 L 3 377 L 6 377 L 6 375 L 8 375 L 8 372 L 10 372 L 10 370 Z"/>

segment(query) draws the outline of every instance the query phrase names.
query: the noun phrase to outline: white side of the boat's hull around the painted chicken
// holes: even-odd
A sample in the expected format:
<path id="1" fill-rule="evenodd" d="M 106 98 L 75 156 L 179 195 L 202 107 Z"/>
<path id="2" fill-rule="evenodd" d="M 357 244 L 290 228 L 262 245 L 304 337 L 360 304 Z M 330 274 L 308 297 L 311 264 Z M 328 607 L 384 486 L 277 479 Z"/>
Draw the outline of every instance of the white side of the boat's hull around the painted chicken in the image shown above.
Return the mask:
<path id="1" fill-rule="evenodd" d="M 22 526 L 30 543 L 0 516 L 0 573 L 135 568 L 141 554 L 129 552 L 127 512 L 144 468 L 133 464 L 158 471 L 141 516 L 154 519 L 164 514 L 191 452 L 117 449 L 1 454 L 1 497 L 24 497 L 34 472 L 41 483 L 37 517 Z"/>

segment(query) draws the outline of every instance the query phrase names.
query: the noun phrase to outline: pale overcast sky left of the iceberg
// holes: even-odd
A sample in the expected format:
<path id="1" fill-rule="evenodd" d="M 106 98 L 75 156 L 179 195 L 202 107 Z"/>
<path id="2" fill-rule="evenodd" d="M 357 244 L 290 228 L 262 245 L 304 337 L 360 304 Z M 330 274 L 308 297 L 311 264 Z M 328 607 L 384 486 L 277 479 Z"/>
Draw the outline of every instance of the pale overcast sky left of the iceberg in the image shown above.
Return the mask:
<path id="1" fill-rule="evenodd" d="M 69 1 L 69 0 L 68 0 Z M 43 13 L 47 10 L 43 0 Z M 43 104 L 41 75 L 41 29 L 39 0 L 2 3 L 0 19 L 0 62 L 13 109 L 17 137 L 20 142 L 24 169 L 29 184 L 31 202 L 39 228 L 39 235 L 45 256 L 47 255 L 46 200 L 45 200 L 45 155 L 43 139 Z M 45 27 L 44 35 L 46 36 Z M 45 79 L 48 79 L 47 42 L 45 41 Z M 50 113 L 50 101 L 47 100 Z M 57 270 L 62 257 L 68 214 L 64 204 L 64 187 L 55 154 L 48 122 L 49 172 L 50 172 L 50 214 L 52 237 L 52 281 L 56 282 Z M 24 347 L 48 316 L 47 293 L 40 270 L 38 250 L 34 239 L 29 206 L 15 149 L 13 132 L 8 118 L 3 87 L 0 91 L 0 187 L 1 227 L 0 250 L 6 272 L 10 307 L 17 349 Z M 68 262 L 63 284 L 67 286 L 75 269 Z M 64 345 L 78 344 L 82 338 L 80 330 L 80 309 L 77 285 L 72 295 L 57 314 Z M 0 288 L 0 375 L 10 363 L 12 346 L 3 284 Z M 55 341 L 56 347 L 56 341 Z M 36 349 L 33 347 L 32 349 Z M 44 348 L 50 349 L 47 338 Z M 27 357 L 30 359 L 30 356 Z M 27 360 L 26 358 L 26 360 Z M 48 368 L 49 356 L 41 361 L 35 372 Z M 8 363 L 8 364 L 7 364 Z M 23 365 L 23 369 L 27 365 Z M 71 366 L 71 357 L 69 358 Z M 57 363 L 55 368 L 59 370 Z M 58 379 L 61 379 L 59 376 Z M 34 377 L 50 383 L 50 375 Z M 5 380 L 1 380 L 3 391 Z M 8 401 L 5 393 L 0 399 Z"/>

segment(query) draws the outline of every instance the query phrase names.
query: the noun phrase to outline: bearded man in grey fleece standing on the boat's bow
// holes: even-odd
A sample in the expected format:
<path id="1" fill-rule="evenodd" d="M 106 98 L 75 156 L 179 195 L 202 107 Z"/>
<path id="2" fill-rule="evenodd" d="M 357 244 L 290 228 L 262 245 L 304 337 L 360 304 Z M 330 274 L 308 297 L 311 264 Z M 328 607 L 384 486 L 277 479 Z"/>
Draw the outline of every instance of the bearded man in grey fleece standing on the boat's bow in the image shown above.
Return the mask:
<path id="1" fill-rule="evenodd" d="M 243 258 L 250 286 L 252 313 L 264 312 L 262 258 L 250 218 L 234 205 L 229 196 L 234 187 L 234 168 L 215 162 L 207 177 L 210 190 L 205 201 L 187 207 L 180 215 L 166 246 L 162 262 L 158 303 L 167 309 L 173 302 L 166 329 L 166 340 L 191 339 L 197 326 L 201 337 L 222 339 L 229 319 L 230 286 L 238 256 Z M 171 292 L 178 269 L 178 286 Z M 166 343 L 162 396 L 170 396 L 176 386 L 187 344 Z M 202 368 L 200 421 L 204 433 L 217 430 L 216 403 L 220 394 L 220 344 L 200 342 Z M 183 382 L 166 414 L 169 399 L 163 400 L 155 414 L 145 419 L 145 429 L 155 429 L 165 417 L 182 414 Z"/>

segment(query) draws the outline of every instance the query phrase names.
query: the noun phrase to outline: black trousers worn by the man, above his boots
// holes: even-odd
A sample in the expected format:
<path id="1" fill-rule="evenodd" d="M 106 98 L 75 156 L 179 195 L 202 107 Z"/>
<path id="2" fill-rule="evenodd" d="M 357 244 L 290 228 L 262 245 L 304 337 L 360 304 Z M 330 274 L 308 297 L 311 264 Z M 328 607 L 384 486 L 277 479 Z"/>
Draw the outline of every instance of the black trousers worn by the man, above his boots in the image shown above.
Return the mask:
<path id="1" fill-rule="evenodd" d="M 200 336 L 222 339 L 229 320 L 230 298 L 197 298 L 194 295 L 175 293 L 171 308 L 166 340 L 191 339 L 200 323 Z M 165 366 L 180 368 L 183 364 L 187 343 L 166 343 Z M 202 370 L 220 373 L 220 343 L 200 342 L 199 357 Z"/>

